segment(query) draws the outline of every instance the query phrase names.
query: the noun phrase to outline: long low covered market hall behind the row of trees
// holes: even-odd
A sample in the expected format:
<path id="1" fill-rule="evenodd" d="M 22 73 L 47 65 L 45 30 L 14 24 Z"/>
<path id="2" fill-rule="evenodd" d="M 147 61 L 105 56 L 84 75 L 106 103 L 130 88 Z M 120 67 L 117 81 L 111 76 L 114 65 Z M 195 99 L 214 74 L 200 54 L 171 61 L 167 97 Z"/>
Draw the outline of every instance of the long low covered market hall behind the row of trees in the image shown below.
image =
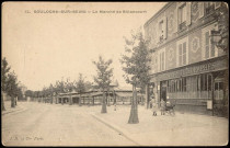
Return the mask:
<path id="1" fill-rule="evenodd" d="M 47 98 L 50 100 L 50 98 Z M 56 104 L 82 104 L 82 105 L 101 105 L 103 99 L 103 92 L 99 90 L 90 90 L 87 92 L 68 92 L 59 93 L 56 98 Z M 124 88 L 115 88 L 105 92 L 105 99 L 107 105 L 130 105 L 133 99 L 133 90 Z M 139 104 L 143 104 L 143 94 L 137 92 L 137 101 Z"/>

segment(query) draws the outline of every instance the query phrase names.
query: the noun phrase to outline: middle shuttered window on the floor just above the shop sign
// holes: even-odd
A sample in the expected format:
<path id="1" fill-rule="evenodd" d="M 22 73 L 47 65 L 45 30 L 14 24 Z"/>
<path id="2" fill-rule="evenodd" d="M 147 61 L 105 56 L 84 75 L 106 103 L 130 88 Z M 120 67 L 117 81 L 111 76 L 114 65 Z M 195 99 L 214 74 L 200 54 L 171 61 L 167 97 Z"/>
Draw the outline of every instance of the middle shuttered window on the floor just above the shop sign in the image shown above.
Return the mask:
<path id="1" fill-rule="evenodd" d="M 179 66 L 186 65 L 186 42 L 179 44 Z"/>

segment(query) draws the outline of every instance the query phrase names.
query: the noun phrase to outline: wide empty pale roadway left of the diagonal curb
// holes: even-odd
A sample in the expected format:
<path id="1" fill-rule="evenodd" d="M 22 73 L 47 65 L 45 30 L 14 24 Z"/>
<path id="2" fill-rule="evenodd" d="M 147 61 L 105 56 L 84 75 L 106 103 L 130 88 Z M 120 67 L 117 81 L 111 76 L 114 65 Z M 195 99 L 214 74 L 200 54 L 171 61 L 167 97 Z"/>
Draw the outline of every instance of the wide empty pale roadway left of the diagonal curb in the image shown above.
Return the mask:
<path id="1" fill-rule="evenodd" d="M 27 110 L 2 116 L 4 146 L 135 146 L 91 115 L 101 106 L 22 104 Z"/>

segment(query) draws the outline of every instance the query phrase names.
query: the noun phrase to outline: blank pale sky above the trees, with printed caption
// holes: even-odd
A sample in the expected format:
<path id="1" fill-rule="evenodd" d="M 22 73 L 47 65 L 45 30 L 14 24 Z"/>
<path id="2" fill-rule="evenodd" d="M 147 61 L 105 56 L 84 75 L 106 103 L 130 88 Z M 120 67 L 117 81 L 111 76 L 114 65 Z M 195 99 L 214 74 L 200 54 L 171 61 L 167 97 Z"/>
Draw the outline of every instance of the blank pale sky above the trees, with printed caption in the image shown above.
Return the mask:
<path id="1" fill-rule="evenodd" d="M 42 90 L 61 78 L 93 82 L 99 55 L 113 59 L 114 80 L 128 86 L 119 62 L 124 36 L 143 24 L 165 2 L 4 2 L 2 4 L 2 57 L 18 80 L 30 90 Z M 34 13 L 61 10 L 71 13 Z M 146 13 L 100 13 L 146 11 Z M 85 13 L 73 13 L 83 11 Z M 93 13 L 94 12 L 94 13 Z M 97 13 L 96 13 L 97 12 Z"/>

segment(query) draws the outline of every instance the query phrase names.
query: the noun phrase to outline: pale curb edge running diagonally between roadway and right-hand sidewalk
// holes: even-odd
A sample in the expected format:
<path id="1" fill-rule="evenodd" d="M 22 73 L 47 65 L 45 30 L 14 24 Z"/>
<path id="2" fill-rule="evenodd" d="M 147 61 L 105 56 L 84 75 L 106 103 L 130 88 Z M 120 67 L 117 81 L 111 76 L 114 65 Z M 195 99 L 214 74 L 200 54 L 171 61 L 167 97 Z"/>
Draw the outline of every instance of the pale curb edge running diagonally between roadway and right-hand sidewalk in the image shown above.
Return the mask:
<path id="1" fill-rule="evenodd" d="M 106 126 L 108 126 L 110 128 L 116 130 L 117 133 L 119 133 L 119 135 L 124 136 L 125 138 L 127 138 L 128 140 L 133 141 L 134 144 L 136 144 L 137 146 L 141 146 L 140 144 L 138 144 L 137 141 L 135 141 L 134 139 L 131 139 L 129 136 L 127 136 L 127 132 L 124 132 L 124 129 L 120 129 L 119 127 L 117 127 L 114 124 L 111 124 L 108 122 L 106 122 L 105 119 L 96 116 L 95 114 L 91 114 L 95 119 L 97 119 L 99 122 L 105 124 Z"/>

